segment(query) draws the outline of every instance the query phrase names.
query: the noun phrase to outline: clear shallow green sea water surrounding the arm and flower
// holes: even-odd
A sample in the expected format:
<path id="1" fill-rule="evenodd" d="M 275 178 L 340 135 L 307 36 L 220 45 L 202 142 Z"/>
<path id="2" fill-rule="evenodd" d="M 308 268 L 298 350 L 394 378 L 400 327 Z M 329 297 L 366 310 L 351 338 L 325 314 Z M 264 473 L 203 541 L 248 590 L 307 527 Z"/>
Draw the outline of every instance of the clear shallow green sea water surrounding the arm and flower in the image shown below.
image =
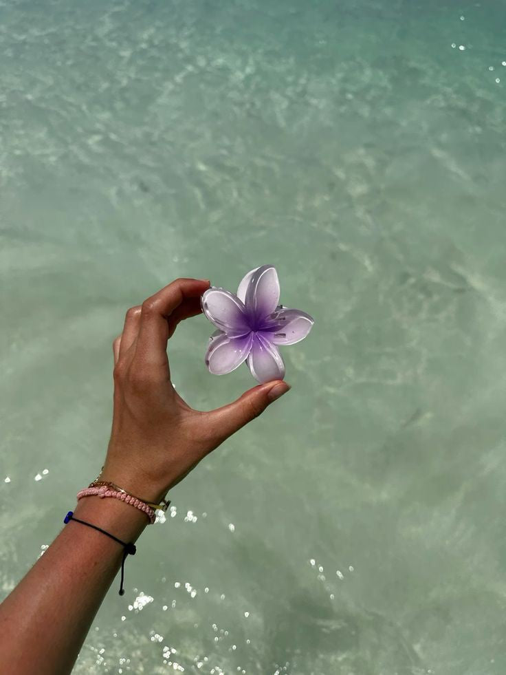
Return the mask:
<path id="1" fill-rule="evenodd" d="M 268 262 L 317 321 L 292 391 L 144 533 L 76 674 L 505 672 L 505 18 L 0 3 L 3 594 L 100 468 L 128 306 Z M 202 409 L 252 385 L 206 372 L 209 333 L 170 345 Z"/>

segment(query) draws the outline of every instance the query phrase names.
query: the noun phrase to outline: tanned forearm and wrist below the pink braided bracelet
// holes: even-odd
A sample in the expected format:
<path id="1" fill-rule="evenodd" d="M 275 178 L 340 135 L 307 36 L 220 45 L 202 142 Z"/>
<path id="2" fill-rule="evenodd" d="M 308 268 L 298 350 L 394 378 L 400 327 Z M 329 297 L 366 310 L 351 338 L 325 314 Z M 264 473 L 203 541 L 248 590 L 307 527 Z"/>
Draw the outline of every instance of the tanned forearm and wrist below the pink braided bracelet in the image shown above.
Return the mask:
<path id="1" fill-rule="evenodd" d="M 100 497 L 80 500 L 74 515 L 123 542 L 135 542 L 148 524 L 133 506 Z M 3 672 L 69 673 L 123 552 L 110 537 L 71 520 L 0 606 Z"/>

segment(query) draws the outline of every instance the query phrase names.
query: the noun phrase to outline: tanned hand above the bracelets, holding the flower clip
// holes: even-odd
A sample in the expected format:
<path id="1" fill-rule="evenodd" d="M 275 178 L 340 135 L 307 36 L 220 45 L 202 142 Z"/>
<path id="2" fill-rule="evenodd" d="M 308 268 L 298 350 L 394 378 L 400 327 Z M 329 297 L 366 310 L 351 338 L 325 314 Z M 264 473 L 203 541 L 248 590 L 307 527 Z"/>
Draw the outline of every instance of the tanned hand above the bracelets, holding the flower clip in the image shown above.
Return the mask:
<path id="1" fill-rule="evenodd" d="M 101 480 L 158 501 L 210 451 L 259 416 L 289 385 L 249 389 L 234 403 L 192 409 L 170 382 L 167 342 L 177 324 L 201 312 L 209 281 L 177 279 L 126 312 L 113 343 L 114 412 Z"/>

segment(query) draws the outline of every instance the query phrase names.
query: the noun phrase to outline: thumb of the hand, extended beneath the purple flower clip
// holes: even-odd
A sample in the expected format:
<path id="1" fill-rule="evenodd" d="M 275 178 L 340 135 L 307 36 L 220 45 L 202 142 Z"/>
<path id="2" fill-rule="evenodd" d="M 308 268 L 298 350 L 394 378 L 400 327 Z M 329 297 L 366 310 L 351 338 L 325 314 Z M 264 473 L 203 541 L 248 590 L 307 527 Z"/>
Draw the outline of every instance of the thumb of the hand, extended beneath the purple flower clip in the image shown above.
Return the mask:
<path id="1" fill-rule="evenodd" d="M 219 429 L 220 442 L 258 417 L 270 403 L 286 394 L 289 389 L 290 385 L 283 380 L 266 382 L 248 389 L 248 392 L 244 392 L 233 403 L 208 413 L 212 427 Z"/>

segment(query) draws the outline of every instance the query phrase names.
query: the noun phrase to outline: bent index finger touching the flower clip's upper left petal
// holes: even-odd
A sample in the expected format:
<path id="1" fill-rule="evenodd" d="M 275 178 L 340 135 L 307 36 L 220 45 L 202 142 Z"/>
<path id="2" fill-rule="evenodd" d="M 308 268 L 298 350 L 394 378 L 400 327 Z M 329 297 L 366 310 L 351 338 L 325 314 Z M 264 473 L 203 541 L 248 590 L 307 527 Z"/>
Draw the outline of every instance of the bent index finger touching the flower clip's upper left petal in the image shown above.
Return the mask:
<path id="1" fill-rule="evenodd" d="M 208 279 L 176 279 L 144 300 L 135 356 L 145 363 L 164 363 L 170 315 L 186 300 L 201 296 L 209 286 Z"/>

